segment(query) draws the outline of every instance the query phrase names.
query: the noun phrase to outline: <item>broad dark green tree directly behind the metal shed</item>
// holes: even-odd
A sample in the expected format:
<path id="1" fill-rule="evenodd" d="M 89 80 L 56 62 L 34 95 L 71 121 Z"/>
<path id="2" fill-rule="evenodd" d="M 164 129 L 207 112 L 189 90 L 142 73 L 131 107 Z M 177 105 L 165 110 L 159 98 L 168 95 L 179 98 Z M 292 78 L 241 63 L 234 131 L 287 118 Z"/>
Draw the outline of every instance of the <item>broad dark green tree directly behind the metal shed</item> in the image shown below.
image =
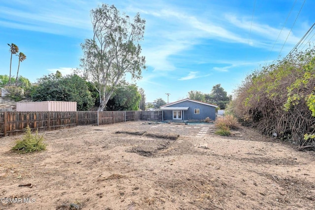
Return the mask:
<path id="1" fill-rule="evenodd" d="M 94 105 L 86 81 L 76 74 L 60 77 L 57 73 L 39 78 L 32 88 L 31 98 L 38 102 L 77 102 L 79 111 L 89 110 Z"/>

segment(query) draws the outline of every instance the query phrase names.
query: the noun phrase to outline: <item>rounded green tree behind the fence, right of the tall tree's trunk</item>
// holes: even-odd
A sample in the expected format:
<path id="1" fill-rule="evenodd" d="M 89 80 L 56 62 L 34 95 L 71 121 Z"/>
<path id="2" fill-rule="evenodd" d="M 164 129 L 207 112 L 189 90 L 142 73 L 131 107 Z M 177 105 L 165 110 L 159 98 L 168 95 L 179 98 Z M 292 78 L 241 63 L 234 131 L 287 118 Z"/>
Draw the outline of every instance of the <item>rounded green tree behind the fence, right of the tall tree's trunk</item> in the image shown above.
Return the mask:
<path id="1" fill-rule="evenodd" d="M 135 84 L 126 82 L 119 84 L 111 99 L 106 105 L 106 110 L 121 111 L 121 110 L 138 110 L 141 95 Z"/>

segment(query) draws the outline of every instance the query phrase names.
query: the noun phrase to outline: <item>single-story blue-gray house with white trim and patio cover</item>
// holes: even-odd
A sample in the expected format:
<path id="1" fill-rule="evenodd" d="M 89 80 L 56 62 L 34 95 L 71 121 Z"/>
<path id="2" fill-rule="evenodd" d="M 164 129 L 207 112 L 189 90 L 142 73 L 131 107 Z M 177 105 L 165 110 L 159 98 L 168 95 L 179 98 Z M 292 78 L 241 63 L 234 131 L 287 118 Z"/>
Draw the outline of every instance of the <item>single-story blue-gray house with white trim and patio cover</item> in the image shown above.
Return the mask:
<path id="1" fill-rule="evenodd" d="M 163 110 L 163 120 L 188 121 L 204 120 L 206 117 L 216 119 L 216 107 L 200 101 L 184 99 L 160 107 Z"/>

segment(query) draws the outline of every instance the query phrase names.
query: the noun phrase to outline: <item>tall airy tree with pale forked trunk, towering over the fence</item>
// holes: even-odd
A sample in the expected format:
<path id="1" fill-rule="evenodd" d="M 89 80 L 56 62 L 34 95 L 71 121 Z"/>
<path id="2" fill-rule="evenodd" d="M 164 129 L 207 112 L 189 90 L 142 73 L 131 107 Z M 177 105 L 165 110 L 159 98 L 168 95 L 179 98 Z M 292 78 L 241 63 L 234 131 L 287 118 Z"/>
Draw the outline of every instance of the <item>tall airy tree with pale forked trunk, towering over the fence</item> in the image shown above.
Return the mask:
<path id="1" fill-rule="evenodd" d="M 139 13 L 130 21 L 112 5 L 102 4 L 91 11 L 93 38 L 81 44 L 81 68 L 99 94 L 98 111 L 102 111 L 126 73 L 141 78 L 145 57 L 139 41 L 143 39 L 145 20 Z"/>

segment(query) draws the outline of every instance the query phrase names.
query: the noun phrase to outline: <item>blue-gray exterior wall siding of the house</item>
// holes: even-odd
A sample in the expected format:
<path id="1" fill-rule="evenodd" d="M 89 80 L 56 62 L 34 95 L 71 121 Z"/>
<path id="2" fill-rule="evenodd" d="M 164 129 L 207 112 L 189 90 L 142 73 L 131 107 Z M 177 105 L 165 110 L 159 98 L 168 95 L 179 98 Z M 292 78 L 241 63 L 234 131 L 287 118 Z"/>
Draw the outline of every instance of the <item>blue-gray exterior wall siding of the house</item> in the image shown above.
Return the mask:
<path id="1" fill-rule="evenodd" d="M 167 107 L 187 107 L 189 106 L 189 109 L 184 112 L 184 118 L 183 120 L 204 120 L 207 117 L 209 117 L 212 120 L 216 119 L 216 107 L 209 106 L 209 105 L 203 105 L 195 102 L 190 101 L 184 101 L 180 102 L 174 105 L 169 105 Z M 200 113 L 195 114 L 194 109 L 199 108 Z M 172 110 L 164 110 L 164 120 L 170 120 L 173 119 L 173 111 Z"/>

